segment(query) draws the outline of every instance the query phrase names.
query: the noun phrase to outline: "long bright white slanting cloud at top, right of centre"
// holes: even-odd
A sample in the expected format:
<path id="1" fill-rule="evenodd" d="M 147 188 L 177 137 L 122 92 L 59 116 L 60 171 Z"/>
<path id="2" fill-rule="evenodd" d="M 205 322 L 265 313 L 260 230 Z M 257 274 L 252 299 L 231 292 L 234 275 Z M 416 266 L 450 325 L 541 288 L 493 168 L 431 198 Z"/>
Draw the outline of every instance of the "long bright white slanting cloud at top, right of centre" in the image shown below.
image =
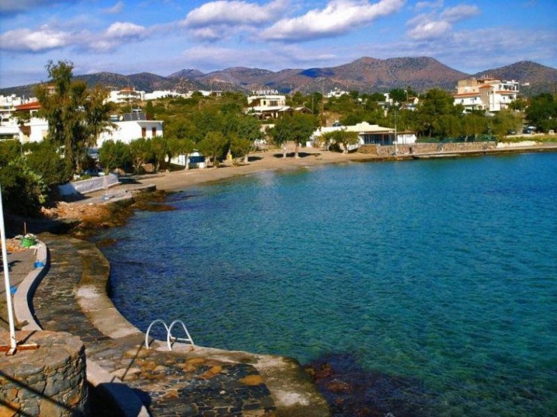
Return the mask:
<path id="1" fill-rule="evenodd" d="M 267 40 L 303 41 L 329 38 L 369 24 L 377 17 L 390 15 L 402 8 L 405 0 L 333 0 L 322 10 L 314 9 L 303 16 L 281 19 L 265 29 Z"/>

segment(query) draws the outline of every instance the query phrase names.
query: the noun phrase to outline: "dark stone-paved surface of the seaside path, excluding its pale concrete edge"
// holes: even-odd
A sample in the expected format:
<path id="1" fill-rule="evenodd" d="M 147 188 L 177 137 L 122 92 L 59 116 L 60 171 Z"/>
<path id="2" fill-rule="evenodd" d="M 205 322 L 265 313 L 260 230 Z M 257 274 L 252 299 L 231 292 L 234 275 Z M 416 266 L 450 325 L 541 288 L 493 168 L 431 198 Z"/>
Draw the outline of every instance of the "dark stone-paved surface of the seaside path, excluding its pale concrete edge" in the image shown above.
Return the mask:
<path id="1" fill-rule="evenodd" d="M 33 297 L 40 325 L 79 336 L 88 359 L 136 389 L 153 416 L 276 415 L 261 375 L 247 363 L 146 350 L 138 335 L 112 339 L 102 334 L 76 300 L 84 261 L 95 262 L 91 244 L 41 238 L 49 247 L 51 265 Z"/>

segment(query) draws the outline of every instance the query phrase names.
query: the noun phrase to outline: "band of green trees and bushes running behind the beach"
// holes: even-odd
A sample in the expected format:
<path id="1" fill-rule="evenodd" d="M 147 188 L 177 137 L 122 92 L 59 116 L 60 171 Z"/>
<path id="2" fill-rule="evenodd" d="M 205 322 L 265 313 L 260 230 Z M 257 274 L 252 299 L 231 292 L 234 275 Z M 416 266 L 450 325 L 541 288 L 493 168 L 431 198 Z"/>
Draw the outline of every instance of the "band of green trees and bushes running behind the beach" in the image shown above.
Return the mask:
<path id="1" fill-rule="evenodd" d="M 96 147 L 102 132 L 113 129 L 111 115 L 132 110 L 130 104 L 116 106 L 107 101 L 106 90 L 88 88 L 83 81 L 74 80 L 72 63 L 51 61 L 46 69 L 49 83 L 39 85 L 35 92 L 41 104 L 39 116 L 49 124 L 45 140 L 26 145 L 15 140 L 0 143 L 0 182 L 6 206 L 14 211 L 37 211 L 48 199 L 56 198 L 56 185 L 95 163 L 87 151 Z M 146 163 L 152 163 L 158 171 L 164 164 L 169 169 L 168 162 L 175 156 L 184 155 L 187 161 L 194 151 L 203 154 L 213 167 L 227 156 L 235 163 L 246 163 L 260 140 L 282 148 L 284 157 L 285 145 L 294 143 L 297 157 L 299 147 L 315 129 L 333 120 L 344 125 L 368 122 L 396 126 L 398 131 L 416 132 L 420 141 L 469 140 L 487 135 L 500 140 L 510 131 L 519 131 L 525 122 L 540 131 L 557 130 L 557 101 L 550 94 L 528 101 L 518 99 L 508 110 L 495 115 L 464 113 L 450 93 L 437 88 L 421 95 L 411 88 L 393 89 L 390 96 L 393 104 L 384 107 L 384 95 L 380 93 L 352 91 L 326 99 L 320 92 L 295 92 L 287 96 L 286 104 L 308 108 L 310 114 L 286 113 L 272 121 L 244 114 L 247 101 L 240 92 L 224 92 L 221 97 L 203 97 L 196 92 L 189 98 L 147 101 L 143 111 L 148 119 L 164 122 L 164 136 L 137 138 L 129 145 L 107 140 L 100 148 L 100 163 L 107 172 L 119 168 L 139 173 Z M 419 103 L 409 110 L 407 104 L 412 97 L 419 97 Z M 28 117 L 22 115 L 22 123 Z M 346 150 L 357 140 L 356 135 L 340 131 L 327 133 L 317 142 Z M 180 169 L 187 168 L 186 164 Z"/>

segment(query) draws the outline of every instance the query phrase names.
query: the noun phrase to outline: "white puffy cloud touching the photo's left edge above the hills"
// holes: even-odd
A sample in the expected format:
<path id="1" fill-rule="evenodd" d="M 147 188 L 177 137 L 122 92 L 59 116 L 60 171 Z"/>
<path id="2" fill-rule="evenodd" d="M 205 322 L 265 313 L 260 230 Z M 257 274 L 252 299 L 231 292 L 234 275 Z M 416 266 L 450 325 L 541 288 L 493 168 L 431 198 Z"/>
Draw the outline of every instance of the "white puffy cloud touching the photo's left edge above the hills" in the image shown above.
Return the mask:
<path id="1" fill-rule="evenodd" d="M 70 44 L 70 33 L 42 26 L 36 31 L 15 29 L 0 35 L 0 49 L 6 51 L 40 52 L 65 47 Z"/>

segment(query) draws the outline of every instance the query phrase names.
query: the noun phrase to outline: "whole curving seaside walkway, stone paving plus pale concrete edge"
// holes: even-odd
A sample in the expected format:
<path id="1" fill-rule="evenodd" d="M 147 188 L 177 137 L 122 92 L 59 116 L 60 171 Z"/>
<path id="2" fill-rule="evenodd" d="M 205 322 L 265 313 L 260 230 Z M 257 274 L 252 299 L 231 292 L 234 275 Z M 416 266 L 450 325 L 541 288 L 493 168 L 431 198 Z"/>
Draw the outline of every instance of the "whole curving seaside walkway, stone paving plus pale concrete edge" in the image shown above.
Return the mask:
<path id="1" fill-rule="evenodd" d="M 40 326 L 79 336 L 88 361 L 134 389 L 153 416 L 329 415 L 291 359 L 203 347 L 191 351 L 189 345 L 168 352 L 166 343 L 157 341 L 147 350 L 144 334 L 107 297 L 109 264 L 97 248 L 68 237 L 40 238 L 51 259 L 33 297 Z"/>

